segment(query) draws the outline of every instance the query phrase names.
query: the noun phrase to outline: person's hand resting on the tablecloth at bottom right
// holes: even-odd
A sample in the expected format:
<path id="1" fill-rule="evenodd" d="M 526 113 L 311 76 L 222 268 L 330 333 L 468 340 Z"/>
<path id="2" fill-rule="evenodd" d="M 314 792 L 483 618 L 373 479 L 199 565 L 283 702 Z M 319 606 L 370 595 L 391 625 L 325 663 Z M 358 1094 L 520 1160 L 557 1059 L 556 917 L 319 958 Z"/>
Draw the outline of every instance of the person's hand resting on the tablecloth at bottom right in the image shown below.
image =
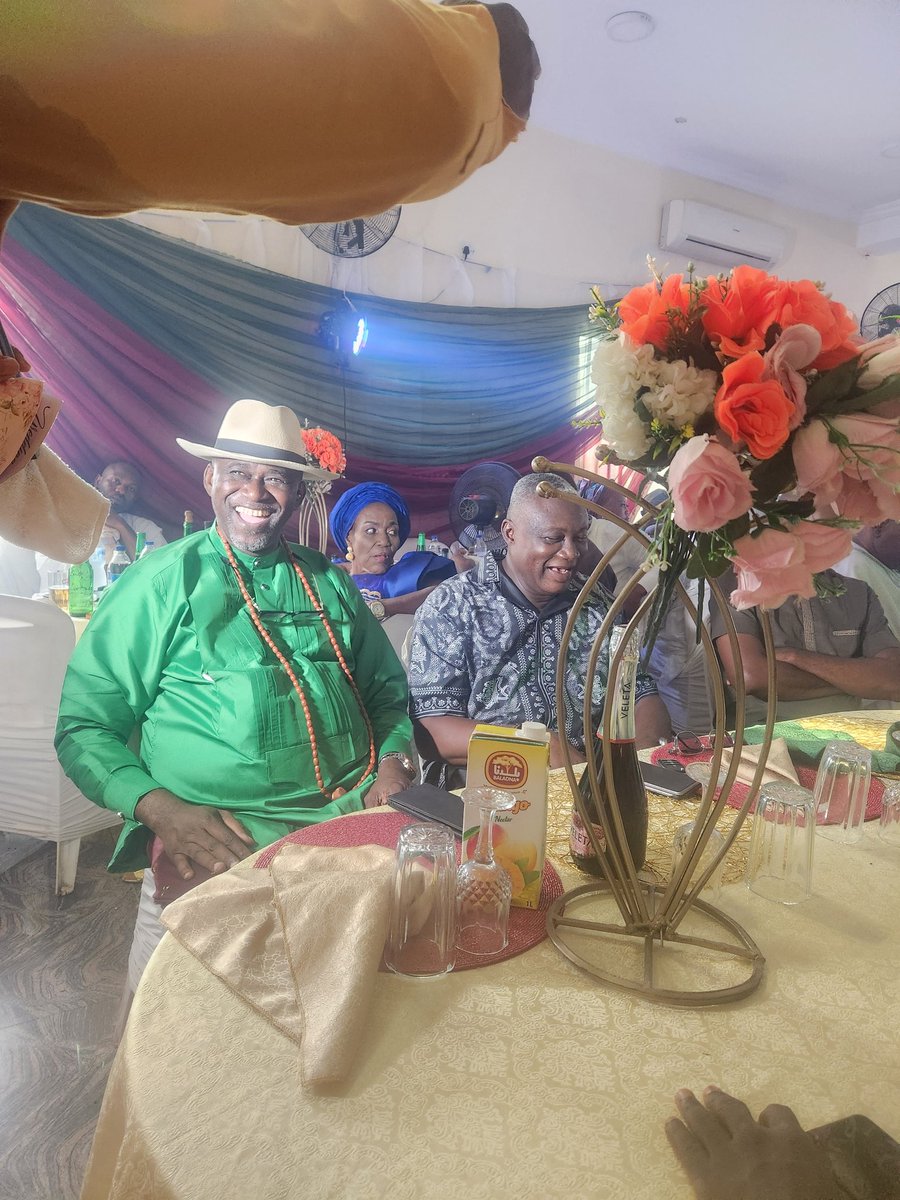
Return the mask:
<path id="1" fill-rule="evenodd" d="M 666 1122 L 666 1136 L 697 1200 L 847 1200 L 827 1151 L 785 1105 L 769 1104 L 754 1121 L 718 1087 L 704 1090 L 702 1104 L 685 1087 L 676 1108 L 680 1120 Z"/>

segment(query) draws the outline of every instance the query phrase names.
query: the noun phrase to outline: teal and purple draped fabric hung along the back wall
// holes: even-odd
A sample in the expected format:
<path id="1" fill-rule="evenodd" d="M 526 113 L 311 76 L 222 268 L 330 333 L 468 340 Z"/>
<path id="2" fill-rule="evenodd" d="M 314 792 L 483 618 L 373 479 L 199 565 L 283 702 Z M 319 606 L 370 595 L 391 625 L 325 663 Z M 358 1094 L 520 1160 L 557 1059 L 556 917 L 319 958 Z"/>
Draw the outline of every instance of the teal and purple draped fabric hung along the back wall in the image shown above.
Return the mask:
<path id="1" fill-rule="evenodd" d="M 185 506 L 209 512 L 197 461 L 175 437 L 209 442 L 241 396 L 332 430 L 348 481 L 390 482 L 428 533 L 446 533 L 450 488 L 472 463 L 571 461 L 592 437 L 581 424 L 594 409 L 587 304 L 460 308 L 354 295 L 368 344 L 342 361 L 317 338 L 340 298 L 127 221 L 36 205 L 18 210 L 0 257 L 0 316 L 64 400 L 48 443 L 88 478 L 112 458 L 136 460 L 148 511 L 163 523 Z"/>

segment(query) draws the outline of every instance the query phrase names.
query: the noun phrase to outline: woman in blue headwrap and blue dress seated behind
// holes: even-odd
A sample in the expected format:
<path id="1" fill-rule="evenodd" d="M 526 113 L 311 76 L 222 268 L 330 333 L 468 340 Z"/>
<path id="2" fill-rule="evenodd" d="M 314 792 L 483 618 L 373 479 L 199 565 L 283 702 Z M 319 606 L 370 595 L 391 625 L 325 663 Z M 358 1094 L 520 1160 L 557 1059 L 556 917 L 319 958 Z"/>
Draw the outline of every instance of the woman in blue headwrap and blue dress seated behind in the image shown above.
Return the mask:
<path id="1" fill-rule="evenodd" d="M 409 536 L 409 509 L 388 484 L 356 484 L 335 504 L 331 538 L 348 571 L 378 620 L 415 612 L 438 583 L 456 575 L 456 563 L 430 551 L 394 557 Z M 461 562 L 462 570 L 470 563 Z"/>

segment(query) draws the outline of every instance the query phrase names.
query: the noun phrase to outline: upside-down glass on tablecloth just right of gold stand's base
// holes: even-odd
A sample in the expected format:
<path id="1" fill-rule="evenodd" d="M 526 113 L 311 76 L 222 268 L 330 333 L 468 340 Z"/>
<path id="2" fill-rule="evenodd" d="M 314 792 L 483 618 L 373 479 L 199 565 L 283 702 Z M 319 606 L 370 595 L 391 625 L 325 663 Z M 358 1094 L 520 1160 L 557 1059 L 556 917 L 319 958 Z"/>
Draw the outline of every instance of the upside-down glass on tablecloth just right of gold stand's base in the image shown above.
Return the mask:
<path id="1" fill-rule="evenodd" d="M 797 784 L 763 784 L 756 802 L 746 886 L 767 900 L 799 904 L 812 890 L 816 802 Z"/>

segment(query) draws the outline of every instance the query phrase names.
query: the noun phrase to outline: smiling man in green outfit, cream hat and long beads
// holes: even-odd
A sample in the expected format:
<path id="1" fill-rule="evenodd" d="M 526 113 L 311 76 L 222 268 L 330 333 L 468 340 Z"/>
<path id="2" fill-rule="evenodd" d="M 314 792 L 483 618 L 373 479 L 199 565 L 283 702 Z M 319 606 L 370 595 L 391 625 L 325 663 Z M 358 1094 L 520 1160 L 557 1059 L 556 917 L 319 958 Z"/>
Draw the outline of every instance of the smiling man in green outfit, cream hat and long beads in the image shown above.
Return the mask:
<path id="1" fill-rule="evenodd" d="M 152 860 L 157 901 L 414 774 L 388 638 L 343 571 L 282 538 L 304 476 L 329 478 L 305 466 L 295 414 L 240 400 L 217 443 L 178 440 L 208 460 L 216 523 L 122 575 L 72 655 L 56 731 L 66 774 L 125 817 L 110 870 Z"/>

